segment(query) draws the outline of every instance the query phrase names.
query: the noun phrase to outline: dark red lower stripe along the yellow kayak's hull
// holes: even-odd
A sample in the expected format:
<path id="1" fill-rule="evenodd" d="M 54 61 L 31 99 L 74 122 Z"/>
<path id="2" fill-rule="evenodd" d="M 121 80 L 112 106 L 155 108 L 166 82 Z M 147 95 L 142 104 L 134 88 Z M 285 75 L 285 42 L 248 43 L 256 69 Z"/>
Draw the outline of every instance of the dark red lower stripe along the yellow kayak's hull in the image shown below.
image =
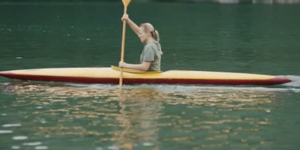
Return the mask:
<path id="1" fill-rule="evenodd" d="M 0 72 L 0 75 L 21 80 L 57 81 L 75 83 L 118 84 L 119 78 L 70 77 L 49 75 L 19 75 Z M 276 85 L 291 82 L 284 77 L 271 79 L 174 79 L 174 78 L 123 78 L 124 84 L 219 84 L 219 85 Z"/>

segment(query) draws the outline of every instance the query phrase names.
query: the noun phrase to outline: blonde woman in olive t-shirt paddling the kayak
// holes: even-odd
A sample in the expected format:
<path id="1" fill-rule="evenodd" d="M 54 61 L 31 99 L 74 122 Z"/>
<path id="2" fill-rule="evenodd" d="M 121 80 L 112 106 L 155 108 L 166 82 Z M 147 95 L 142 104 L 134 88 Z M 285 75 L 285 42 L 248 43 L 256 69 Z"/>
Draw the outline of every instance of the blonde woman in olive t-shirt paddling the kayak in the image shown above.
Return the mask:
<path id="1" fill-rule="evenodd" d="M 137 26 L 131 21 L 127 14 L 124 14 L 122 21 L 125 20 L 130 28 L 139 36 L 142 43 L 145 44 L 140 57 L 141 64 L 127 64 L 120 61 L 119 67 L 135 69 L 139 71 L 160 71 L 161 46 L 159 43 L 158 32 L 150 23 L 143 23 Z M 156 39 L 155 39 L 156 38 Z"/>

